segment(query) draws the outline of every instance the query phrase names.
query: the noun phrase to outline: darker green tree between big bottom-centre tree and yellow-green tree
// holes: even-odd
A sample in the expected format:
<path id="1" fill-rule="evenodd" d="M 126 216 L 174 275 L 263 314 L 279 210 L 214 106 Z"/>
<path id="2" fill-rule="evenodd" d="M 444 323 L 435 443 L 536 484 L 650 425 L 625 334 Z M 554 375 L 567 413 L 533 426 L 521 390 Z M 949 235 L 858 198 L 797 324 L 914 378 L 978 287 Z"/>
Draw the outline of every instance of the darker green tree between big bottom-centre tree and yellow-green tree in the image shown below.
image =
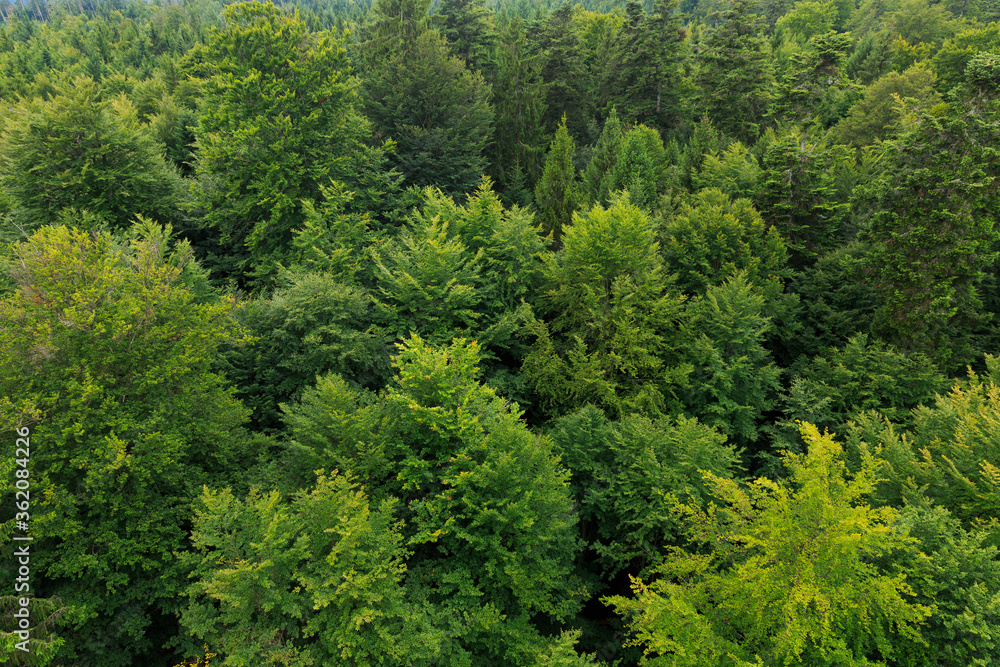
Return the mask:
<path id="1" fill-rule="evenodd" d="M 581 536 L 605 579 L 658 565 L 677 537 L 677 499 L 707 500 L 702 471 L 730 477 L 740 467 L 725 436 L 684 416 L 612 422 L 587 405 L 556 420 L 550 435 L 572 473 Z"/>

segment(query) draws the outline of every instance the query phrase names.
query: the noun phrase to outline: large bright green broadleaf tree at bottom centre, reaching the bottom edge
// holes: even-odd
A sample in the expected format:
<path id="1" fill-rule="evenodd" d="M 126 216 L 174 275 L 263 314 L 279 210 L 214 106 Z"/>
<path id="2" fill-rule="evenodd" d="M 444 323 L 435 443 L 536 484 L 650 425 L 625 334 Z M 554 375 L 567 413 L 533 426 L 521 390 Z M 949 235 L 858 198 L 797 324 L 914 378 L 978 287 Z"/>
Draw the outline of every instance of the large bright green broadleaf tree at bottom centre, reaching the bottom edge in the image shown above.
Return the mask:
<path id="1" fill-rule="evenodd" d="M 405 501 L 406 586 L 442 637 L 439 659 L 533 665 L 545 642 L 530 619 L 565 619 L 583 593 L 568 475 L 550 441 L 479 384 L 478 361 L 474 342 L 413 337 L 377 398 L 330 376 L 286 412 L 305 452 Z"/>

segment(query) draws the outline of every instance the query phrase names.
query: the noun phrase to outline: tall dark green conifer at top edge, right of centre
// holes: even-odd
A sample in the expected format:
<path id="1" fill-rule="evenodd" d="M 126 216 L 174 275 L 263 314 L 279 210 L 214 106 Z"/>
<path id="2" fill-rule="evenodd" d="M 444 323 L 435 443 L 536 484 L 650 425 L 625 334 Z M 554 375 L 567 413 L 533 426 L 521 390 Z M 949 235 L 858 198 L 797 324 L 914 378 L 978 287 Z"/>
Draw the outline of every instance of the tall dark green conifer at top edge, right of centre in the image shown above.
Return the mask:
<path id="1" fill-rule="evenodd" d="M 721 23 L 702 40 L 698 53 L 698 88 L 702 106 L 724 133 L 756 139 L 770 102 L 774 68 L 763 20 L 753 0 L 737 0 L 719 17 Z"/>

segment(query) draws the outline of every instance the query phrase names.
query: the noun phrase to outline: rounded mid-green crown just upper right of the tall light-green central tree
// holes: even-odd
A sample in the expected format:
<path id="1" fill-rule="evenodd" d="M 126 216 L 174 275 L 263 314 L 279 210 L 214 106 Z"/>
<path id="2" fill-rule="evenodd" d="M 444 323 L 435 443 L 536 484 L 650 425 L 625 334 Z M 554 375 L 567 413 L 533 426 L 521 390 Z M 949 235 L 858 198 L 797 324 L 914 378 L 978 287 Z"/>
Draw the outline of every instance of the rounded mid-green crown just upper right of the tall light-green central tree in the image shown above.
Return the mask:
<path id="1" fill-rule="evenodd" d="M 770 298 L 781 293 L 785 242 L 747 199 L 702 190 L 667 220 L 662 238 L 667 269 L 677 273 L 677 286 L 686 294 L 704 294 L 740 273 Z"/>

